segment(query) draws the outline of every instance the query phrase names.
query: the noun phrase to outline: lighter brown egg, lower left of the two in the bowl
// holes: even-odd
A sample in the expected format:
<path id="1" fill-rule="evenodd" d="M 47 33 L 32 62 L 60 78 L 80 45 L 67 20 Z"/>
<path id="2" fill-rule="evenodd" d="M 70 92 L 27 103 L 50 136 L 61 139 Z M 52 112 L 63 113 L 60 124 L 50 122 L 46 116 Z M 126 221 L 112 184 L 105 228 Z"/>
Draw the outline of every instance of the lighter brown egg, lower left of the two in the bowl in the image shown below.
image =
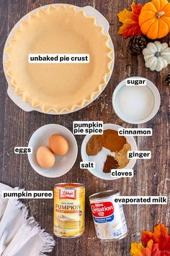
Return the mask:
<path id="1" fill-rule="evenodd" d="M 41 146 L 40 148 L 38 148 L 36 157 L 37 157 L 37 163 L 42 168 L 50 168 L 55 163 L 55 155 L 50 150 L 50 148 L 45 146 Z"/>

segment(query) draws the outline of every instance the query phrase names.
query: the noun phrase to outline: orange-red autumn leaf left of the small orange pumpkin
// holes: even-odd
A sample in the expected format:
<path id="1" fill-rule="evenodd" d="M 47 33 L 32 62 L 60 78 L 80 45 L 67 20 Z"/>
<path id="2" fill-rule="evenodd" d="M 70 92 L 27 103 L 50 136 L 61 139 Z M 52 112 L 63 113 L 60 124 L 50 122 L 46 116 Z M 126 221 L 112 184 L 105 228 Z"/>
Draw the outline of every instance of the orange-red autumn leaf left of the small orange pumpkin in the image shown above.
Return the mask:
<path id="1" fill-rule="evenodd" d="M 135 4 L 135 2 L 133 1 L 133 3 L 131 4 L 131 9 L 131 12 L 128 11 L 128 9 L 124 9 L 117 14 L 119 21 L 123 24 L 117 33 L 120 35 L 124 35 L 125 38 L 133 35 L 142 35 L 138 23 L 138 17 L 142 6 L 141 4 Z"/>

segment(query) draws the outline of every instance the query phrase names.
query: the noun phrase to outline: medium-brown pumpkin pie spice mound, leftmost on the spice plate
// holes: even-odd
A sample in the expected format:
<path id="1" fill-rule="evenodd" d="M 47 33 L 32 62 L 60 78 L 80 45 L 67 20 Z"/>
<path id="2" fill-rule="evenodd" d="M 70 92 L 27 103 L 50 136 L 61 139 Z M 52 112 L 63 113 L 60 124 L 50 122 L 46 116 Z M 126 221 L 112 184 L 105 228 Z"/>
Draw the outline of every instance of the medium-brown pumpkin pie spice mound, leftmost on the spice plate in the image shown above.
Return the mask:
<path id="1" fill-rule="evenodd" d="M 97 155 L 102 150 L 102 136 L 92 135 L 86 144 L 87 155 Z"/>

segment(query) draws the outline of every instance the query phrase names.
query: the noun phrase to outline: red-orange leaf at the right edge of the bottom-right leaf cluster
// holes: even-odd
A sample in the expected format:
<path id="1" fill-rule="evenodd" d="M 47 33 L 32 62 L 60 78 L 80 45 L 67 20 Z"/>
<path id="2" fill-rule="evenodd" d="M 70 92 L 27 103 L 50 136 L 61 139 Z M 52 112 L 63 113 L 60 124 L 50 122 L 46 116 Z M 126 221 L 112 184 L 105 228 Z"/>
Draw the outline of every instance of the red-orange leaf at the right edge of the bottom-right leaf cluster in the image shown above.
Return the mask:
<path id="1" fill-rule="evenodd" d="M 158 248 L 161 251 L 169 252 L 170 255 L 170 236 L 168 235 L 168 228 L 166 228 L 162 223 L 154 228 L 153 233 L 149 231 L 141 231 L 142 238 L 141 242 L 147 244 L 149 240 L 153 240 L 153 244 L 158 244 Z"/>

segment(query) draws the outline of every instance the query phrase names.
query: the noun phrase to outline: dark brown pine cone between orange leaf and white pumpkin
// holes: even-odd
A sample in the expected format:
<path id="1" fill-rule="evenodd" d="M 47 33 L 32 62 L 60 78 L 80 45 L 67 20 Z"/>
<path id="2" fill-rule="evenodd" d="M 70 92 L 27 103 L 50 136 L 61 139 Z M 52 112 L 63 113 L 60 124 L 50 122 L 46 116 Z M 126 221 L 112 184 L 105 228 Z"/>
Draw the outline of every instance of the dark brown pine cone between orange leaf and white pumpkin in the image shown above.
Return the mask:
<path id="1" fill-rule="evenodd" d="M 146 48 L 146 38 L 144 38 L 143 35 L 135 35 L 130 38 L 128 45 L 130 54 L 141 54 L 144 48 Z"/>

